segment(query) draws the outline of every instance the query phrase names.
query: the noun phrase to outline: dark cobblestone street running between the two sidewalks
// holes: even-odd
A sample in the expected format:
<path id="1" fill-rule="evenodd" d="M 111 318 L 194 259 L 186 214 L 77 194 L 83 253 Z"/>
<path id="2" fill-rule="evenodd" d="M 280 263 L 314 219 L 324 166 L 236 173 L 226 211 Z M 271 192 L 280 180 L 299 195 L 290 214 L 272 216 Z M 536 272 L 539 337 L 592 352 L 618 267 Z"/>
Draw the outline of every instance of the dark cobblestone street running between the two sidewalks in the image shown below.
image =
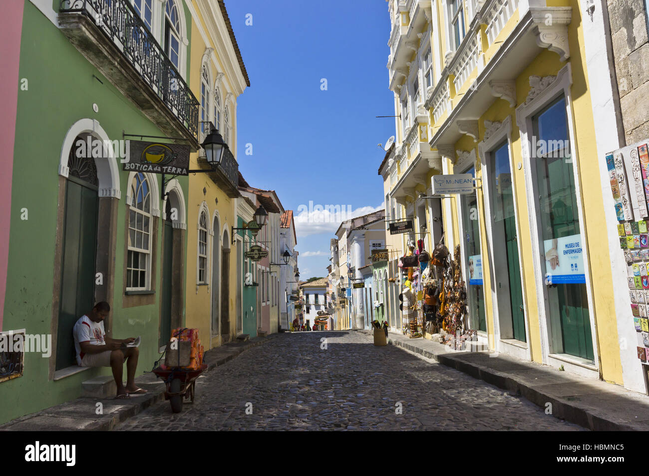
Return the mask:
<path id="1" fill-rule="evenodd" d="M 452 368 L 375 347 L 367 335 L 304 332 L 281 335 L 207 372 L 197 381 L 195 403 L 182 413 L 162 401 L 116 429 L 582 428 Z"/>

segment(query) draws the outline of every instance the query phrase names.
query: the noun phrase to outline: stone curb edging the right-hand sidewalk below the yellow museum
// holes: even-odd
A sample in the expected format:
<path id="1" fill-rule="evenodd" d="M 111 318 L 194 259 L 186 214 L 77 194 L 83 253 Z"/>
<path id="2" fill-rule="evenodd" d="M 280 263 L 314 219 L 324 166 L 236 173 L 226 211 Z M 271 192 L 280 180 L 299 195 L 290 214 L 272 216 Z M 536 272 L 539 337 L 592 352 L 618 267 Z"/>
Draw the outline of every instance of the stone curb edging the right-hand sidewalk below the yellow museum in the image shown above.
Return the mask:
<path id="1" fill-rule="evenodd" d="M 361 330 L 361 332 L 365 335 L 371 336 L 370 332 L 363 332 L 363 330 Z M 421 341 L 421 339 L 417 340 Z M 578 424 L 587 429 L 593 431 L 644 431 L 644 427 L 641 425 L 615 418 L 615 416 L 606 414 L 601 409 L 591 407 L 585 403 L 570 400 L 570 396 L 563 398 L 553 396 L 543 392 L 541 389 L 534 388 L 537 387 L 536 385 L 528 385 L 522 381 L 521 378 L 517 378 L 517 376 L 513 374 L 485 367 L 484 365 L 479 365 L 471 361 L 459 359 L 456 354 L 437 353 L 413 345 L 414 343 L 403 342 L 390 336 L 387 338 L 387 343 L 427 357 L 428 359 L 437 361 L 442 365 L 459 370 L 473 378 L 483 380 L 491 385 L 499 387 L 500 389 L 522 396 L 522 398 L 534 403 L 543 410 L 546 409 L 547 403 L 552 403 L 552 416 L 561 420 L 566 420 L 570 423 Z M 521 361 L 521 363 L 528 362 Z M 547 366 L 539 366 L 539 368 L 543 367 Z"/>

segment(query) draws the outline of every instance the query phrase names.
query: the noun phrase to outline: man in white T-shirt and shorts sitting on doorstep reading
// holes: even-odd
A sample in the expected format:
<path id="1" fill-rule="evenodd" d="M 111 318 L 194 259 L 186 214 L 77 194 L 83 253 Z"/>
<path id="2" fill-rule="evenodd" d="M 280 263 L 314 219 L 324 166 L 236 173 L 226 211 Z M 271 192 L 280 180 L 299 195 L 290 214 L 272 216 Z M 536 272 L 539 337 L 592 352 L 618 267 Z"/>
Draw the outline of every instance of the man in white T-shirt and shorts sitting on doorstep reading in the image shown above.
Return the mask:
<path id="1" fill-rule="evenodd" d="M 77 321 L 73 333 L 77 363 L 79 367 L 111 367 L 113 378 L 117 384 L 116 398 L 129 398 L 129 394 L 145 394 L 147 391 L 135 385 L 135 370 L 138 367 L 140 351 L 137 347 L 127 344 L 134 342 L 129 339 L 111 339 L 104 332 L 104 319 L 108 317 L 110 305 L 101 301 L 95 304 L 92 311 Z M 122 372 L 126 361 L 127 383 L 122 383 Z"/>

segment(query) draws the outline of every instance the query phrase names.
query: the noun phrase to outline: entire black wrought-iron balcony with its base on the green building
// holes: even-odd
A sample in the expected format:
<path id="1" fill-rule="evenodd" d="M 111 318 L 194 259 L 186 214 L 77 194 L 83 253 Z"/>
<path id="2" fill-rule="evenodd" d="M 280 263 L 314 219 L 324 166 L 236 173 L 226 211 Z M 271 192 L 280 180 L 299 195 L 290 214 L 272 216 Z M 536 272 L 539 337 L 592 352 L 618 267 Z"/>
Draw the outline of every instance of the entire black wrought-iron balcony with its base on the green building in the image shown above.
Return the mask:
<path id="1" fill-rule="evenodd" d="M 62 0 L 58 23 L 160 130 L 198 144 L 199 101 L 128 0 Z"/>

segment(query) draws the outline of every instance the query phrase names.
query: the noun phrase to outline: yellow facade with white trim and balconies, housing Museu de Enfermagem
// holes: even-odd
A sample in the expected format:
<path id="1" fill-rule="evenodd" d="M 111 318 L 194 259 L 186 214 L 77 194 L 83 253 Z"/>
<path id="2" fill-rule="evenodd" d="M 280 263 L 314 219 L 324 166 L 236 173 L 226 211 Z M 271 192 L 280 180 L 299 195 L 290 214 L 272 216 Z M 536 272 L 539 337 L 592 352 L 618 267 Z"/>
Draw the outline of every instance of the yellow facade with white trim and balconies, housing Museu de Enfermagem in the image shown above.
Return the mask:
<path id="1" fill-rule="evenodd" d="M 411 219 L 417 233 L 388 233 L 388 249 L 398 259 L 412 239 L 459 244 L 467 328 L 490 350 L 640 390 L 639 365 L 622 377 L 635 349 L 618 341 L 609 151 L 592 97 L 608 74 L 601 13 L 570 0 L 389 0 L 388 10 L 399 117 L 378 173 L 386 220 Z M 440 174 L 471 174 L 474 191 L 434 194 Z"/>

